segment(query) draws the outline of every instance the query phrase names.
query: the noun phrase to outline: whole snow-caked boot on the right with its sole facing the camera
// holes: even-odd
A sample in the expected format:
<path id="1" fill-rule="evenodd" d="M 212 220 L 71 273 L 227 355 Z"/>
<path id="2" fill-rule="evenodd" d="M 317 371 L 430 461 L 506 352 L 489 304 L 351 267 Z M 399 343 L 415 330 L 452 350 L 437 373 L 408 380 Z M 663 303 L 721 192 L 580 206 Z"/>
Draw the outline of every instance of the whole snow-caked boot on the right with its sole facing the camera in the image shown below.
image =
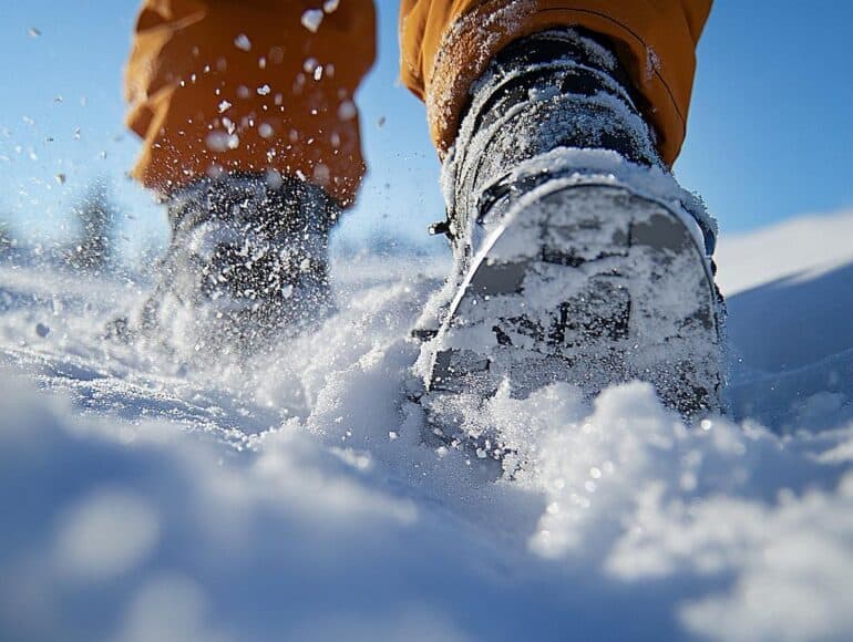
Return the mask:
<path id="1" fill-rule="evenodd" d="M 455 278 L 417 366 L 441 441 L 512 448 L 479 418 L 507 384 L 592 398 L 639 379 L 687 418 L 721 410 L 716 226 L 636 104 L 616 56 L 573 30 L 514 43 L 472 89 L 443 169 Z"/>

